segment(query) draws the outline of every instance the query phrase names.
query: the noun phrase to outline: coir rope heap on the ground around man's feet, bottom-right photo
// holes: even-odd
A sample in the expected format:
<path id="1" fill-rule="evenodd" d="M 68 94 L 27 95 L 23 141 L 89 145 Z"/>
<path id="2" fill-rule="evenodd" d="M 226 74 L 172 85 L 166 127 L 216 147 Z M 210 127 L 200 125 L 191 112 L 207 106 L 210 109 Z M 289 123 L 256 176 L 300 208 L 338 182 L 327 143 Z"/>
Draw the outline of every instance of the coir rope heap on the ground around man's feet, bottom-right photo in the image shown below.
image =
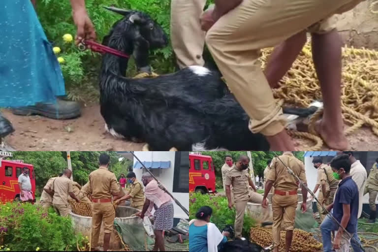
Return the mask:
<path id="1" fill-rule="evenodd" d="M 281 231 L 280 248 L 283 250 L 285 250 L 285 235 L 286 232 Z M 261 247 L 270 246 L 273 241 L 272 229 L 252 227 L 250 238 L 251 241 Z M 316 241 L 311 233 L 301 229 L 294 229 L 290 252 L 317 252 L 321 248 L 322 244 Z"/>

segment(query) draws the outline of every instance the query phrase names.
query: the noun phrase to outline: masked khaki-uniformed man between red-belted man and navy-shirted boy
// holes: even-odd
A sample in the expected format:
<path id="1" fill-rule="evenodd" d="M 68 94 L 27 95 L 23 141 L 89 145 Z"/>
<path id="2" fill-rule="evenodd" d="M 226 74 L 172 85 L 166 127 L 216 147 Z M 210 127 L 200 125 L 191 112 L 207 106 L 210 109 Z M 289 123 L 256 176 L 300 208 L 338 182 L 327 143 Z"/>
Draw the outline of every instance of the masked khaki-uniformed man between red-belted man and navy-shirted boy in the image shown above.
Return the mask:
<path id="1" fill-rule="evenodd" d="M 323 160 L 320 157 L 315 157 L 313 159 L 313 164 L 317 169 L 317 181 L 314 189 L 314 194 L 316 193 L 317 189 L 321 187 L 317 199 L 320 203 L 322 203 L 322 205 L 325 204 L 326 206 L 328 206 L 333 202 L 333 198 L 335 196 L 340 180 L 335 179 L 331 166 L 323 164 Z M 319 212 L 320 222 L 322 222 L 325 218 L 325 215 L 322 214 L 323 209 L 317 202 L 316 207 Z"/>

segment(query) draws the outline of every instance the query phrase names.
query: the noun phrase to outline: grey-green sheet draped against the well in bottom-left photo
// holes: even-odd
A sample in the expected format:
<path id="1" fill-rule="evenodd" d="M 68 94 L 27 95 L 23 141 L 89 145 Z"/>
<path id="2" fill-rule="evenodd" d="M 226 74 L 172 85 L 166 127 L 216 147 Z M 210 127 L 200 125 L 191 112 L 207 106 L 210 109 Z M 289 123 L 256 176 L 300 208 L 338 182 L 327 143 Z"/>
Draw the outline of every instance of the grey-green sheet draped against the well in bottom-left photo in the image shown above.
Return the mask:
<path id="1" fill-rule="evenodd" d="M 124 244 L 132 251 L 151 251 L 155 244 L 155 239 L 146 234 L 143 221 L 139 218 L 137 223 L 129 223 L 122 219 L 114 220 L 114 226 L 120 234 Z"/>

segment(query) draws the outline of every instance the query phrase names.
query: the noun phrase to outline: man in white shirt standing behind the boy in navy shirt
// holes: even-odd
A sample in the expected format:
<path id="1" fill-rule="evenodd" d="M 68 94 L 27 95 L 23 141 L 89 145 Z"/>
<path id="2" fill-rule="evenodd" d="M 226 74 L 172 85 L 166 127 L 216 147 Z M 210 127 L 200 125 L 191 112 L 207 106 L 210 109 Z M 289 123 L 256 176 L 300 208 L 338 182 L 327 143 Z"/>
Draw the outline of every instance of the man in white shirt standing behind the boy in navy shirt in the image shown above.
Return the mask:
<path id="1" fill-rule="evenodd" d="M 358 216 L 357 218 L 361 217 L 362 214 L 362 197 L 364 196 L 364 189 L 366 185 L 366 181 L 368 178 L 368 173 L 366 172 L 365 167 L 361 164 L 360 160 L 357 160 L 353 156 L 353 152 L 347 151 L 343 152 L 347 154 L 351 163 L 350 166 L 350 176 L 352 176 L 352 180 L 357 184 L 358 188 Z M 350 244 L 353 248 L 353 251 L 361 251 L 360 249 L 360 239 L 358 238 L 357 232 L 353 234 L 353 238 L 359 243 L 356 243 L 354 240 L 350 241 Z"/>

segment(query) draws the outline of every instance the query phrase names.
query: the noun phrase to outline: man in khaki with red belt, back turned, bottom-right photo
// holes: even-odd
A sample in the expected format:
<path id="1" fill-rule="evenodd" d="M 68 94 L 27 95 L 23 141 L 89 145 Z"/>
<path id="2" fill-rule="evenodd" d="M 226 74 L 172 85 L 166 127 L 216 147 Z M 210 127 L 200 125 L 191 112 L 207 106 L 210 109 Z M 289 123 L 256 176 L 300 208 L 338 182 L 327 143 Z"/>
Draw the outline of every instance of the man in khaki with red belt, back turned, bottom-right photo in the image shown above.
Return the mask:
<path id="1" fill-rule="evenodd" d="M 305 167 L 303 162 L 295 158 L 291 152 L 284 152 L 279 157 L 284 164 L 289 167 L 295 175 L 303 183 L 307 183 Z M 278 252 L 280 246 L 280 231 L 281 224 L 284 222 L 284 229 L 286 230 L 286 252 L 291 247 L 293 238 L 295 210 L 298 204 L 298 183 L 293 175 L 290 175 L 286 166 L 278 158 L 273 158 L 270 165 L 270 172 L 268 174 L 266 188 L 264 191 L 264 199 L 262 206 L 268 207 L 267 196 L 274 185 L 274 195 L 272 197 L 272 210 L 273 210 L 273 252 Z M 307 189 L 302 187 L 302 195 L 307 199 Z M 306 200 L 303 201 L 301 209 L 303 212 L 307 210 Z"/>

